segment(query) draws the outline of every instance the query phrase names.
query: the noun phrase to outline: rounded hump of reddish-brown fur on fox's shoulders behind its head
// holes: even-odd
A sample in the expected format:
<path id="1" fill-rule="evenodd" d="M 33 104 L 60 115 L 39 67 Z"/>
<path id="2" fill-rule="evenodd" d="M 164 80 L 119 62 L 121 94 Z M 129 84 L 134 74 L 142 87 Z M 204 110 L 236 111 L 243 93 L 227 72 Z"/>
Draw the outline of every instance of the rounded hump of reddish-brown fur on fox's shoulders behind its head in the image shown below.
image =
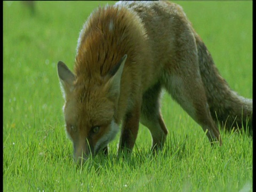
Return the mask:
<path id="1" fill-rule="evenodd" d="M 98 7 L 79 34 L 75 74 L 105 76 L 125 54 L 129 56 L 126 64 L 137 60 L 138 50 L 145 49 L 140 47 L 145 38 L 145 28 L 131 10 L 123 6 Z"/>

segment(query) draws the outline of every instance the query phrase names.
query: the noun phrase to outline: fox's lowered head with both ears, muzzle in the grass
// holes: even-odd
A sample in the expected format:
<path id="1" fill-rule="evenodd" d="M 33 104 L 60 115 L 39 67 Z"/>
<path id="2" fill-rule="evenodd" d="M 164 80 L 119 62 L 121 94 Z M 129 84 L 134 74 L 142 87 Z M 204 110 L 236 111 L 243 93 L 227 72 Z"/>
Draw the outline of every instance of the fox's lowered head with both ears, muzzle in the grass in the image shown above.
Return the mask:
<path id="1" fill-rule="evenodd" d="M 80 78 L 65 63 L 58 62 L 58 75 L 65 99 L 63 113 L 66 132 L 73 142 L 77 162 L 107 147 L 119 130 L 115 113 L 126 58 L 127 55 L 124 55 L 105 77 L 96 74 Z"/>

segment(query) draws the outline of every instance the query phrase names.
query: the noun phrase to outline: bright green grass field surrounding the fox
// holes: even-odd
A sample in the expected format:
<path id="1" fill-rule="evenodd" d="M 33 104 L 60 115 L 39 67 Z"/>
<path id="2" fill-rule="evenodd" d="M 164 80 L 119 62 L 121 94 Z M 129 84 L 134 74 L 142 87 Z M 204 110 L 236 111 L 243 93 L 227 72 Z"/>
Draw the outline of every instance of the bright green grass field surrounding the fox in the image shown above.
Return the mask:
<path id="1" fill-rule="evenodd" d="M 252 98 L 252 2 L 178 3 L 230 87 Z M 56 65 L 73 68 L 79 31 L 99 4 L 106 2 L 36 2 L 31 14 L 3 2 L 4 191 L 252 191 L 252 137 L 222 131 L 223 146 L 211 148 L 167 94 L 162 153 L 151 155 L 140 126 L 130 158 L 116 158 L 117 137 L 108 157 L 74 165 Z"/>

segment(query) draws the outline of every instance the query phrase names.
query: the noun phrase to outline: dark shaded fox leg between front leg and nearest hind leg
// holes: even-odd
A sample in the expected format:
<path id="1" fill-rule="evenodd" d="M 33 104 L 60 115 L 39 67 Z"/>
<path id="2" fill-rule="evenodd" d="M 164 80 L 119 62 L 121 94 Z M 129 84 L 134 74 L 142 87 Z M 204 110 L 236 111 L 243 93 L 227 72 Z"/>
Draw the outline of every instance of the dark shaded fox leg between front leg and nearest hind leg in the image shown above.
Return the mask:
<path id="1" fill-rule="evenodd" d="M 153 151 L 162 149 L 168 133 L 160 111 L 160 94 L 161 85 L 158 82 L 143 94 L 141 105 L 140 122 L 151 133 Z"/>

